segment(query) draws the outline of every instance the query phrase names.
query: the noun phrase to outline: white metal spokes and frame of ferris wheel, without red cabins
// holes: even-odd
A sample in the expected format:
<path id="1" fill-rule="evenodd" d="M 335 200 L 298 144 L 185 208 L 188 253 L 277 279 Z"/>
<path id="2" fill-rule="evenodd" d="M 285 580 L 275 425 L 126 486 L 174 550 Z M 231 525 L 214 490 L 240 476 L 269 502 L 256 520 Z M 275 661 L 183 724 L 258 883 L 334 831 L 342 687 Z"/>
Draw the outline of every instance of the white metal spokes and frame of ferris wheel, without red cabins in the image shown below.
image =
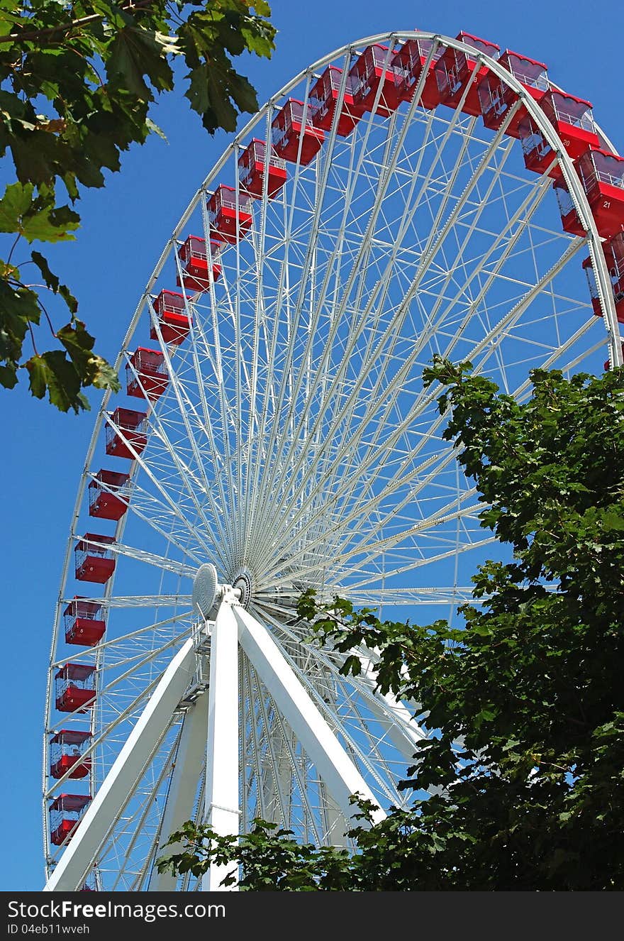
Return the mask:
<path id="1" fill-rule="evenodd" d="M 153 326 L 170 383 L 148 405 L 147 448 L 132 449 L 131 499 L 113 547 L 120 574 L 98 598 L 117 627 L 94 648 L 69 649 L 62 611 L 80 593 L 70 574 L 75 540 L 97 529 L 85 518 L 86 487 L 102 460 L 110 393 L 86 455 L 46 696 L 48 888 L 78 887 L 96 859 L 101 887 L 172 886 L 153 862 L 167 829 L 191 813 L 233 833 L 234 818 L 240 812 L 247 825 L 255 801 L 260 810 L 273 807 L 284 824 L 295 821 L 302 838 L 322 841 L 344 829 L 355 785 L 377 803 L 392 803 L 398 759 L 426 733 L 411 724 L 408 707 L 375 692 L 369 670 L 344 678 L 340 658 L 309 646 L 293 611 L 301 587 L 329 598 L 340 590 L 383 610 L 444 605 L 452 613 L 469 598 L 461 587 L 464 553 L 479 558 L 491 537 L 479 530 L 480 504 L 441 439 L 437 391 L 415 384 L 431 352 L 473 359 L 477 371 L 519 398 L 528 392 L 530 366 L 573 371 L 600 353 L 605 331 L 611 361 L 621 359 L 601 240 L 572 163 L 525 89 L 480 54 L 475 68 L 487 64 L 517 92 L 554 148 L 585 239 L 556 231 L 554 206 L 554 225 L 548 222 L 550 181 L 514 167 L 517 145 L 506 139 L 506 124 L 486 132 L 460 113 L 461 103 L 424 114 L 421 78 L 412 103 L 390 119 L 367 116 L 342 139 L 334 120 L 319 158 L 290 165 L 289 183 L 273 200 L 265 180 L 263 199 L 253 201 L 252 231 L 221 253 L 218 282 L 210 259 L 211 290 L 180 289 L 191 318 L 188 342 L 163 343 L 151 296 L 167 265 L 169 276 L 181 273 L 178 246 L 188 227 L 209 235 L 205 197 L 222 174 L 233 174 L 239 199 L 237 160 L 248 138 L 269 139 L 290 94 L 303 98 L 305 110 L 314 75 L 330 63 L 344 72 L 337 114 L 357 50 L 385 43 L 387 67 L 393 43 L 409 38 L 462 48 L 426 32 L 368 37 L 324 56 L 275 95 L 212 167 L 134 311 L 117 369 L 129 361 L 140 330 Z M 586 296 L 576 287 L 567 293 L 565 279 L 580 268 L 583 248 L 596 274 L 603 327 Z M 207 560 L 222 581 L 244 575 L 252 586 L 247 611 L 233 598 L 222 604 L 208 665 L 190 592 Z M 447 580 L 429 571 L 444 571 Z M 220 647 L 226 666 L 215 674 Z M 180 668 L 174 680 L 180 657 L 189 658 L 190 672 Z M 98 668 L 97 705 L 88 716 L 55 713 L 54 674 L 70 661 Z M 158 696 L 166 706 L 156 734 L 148 732 L 148 715 Z M 70 842 L 51 850 L 47 805 L 70 779 L 49 778 L 49 738 L 60 726 L 86 723 L 94 735 L 93 801 Z M 206 723 L 204 760 L 197 729 Z M 222 732 L 229 747 L 215 744 Z M 227 756 L 223 773 L 215 770 L 216 754 Z M 129 787 L 129 769 L 135 774 L 139 766 Z M 238 805 L 224 797 L 235 777 Z M 109 789 L 117 793 L 116 781 L 125 782 L 125 804 L 106 797 Z M 144 861 L 131 865 L 124 848 L 128 859 Z M 207 885 L 222 876 L 211 873 Z"/>

